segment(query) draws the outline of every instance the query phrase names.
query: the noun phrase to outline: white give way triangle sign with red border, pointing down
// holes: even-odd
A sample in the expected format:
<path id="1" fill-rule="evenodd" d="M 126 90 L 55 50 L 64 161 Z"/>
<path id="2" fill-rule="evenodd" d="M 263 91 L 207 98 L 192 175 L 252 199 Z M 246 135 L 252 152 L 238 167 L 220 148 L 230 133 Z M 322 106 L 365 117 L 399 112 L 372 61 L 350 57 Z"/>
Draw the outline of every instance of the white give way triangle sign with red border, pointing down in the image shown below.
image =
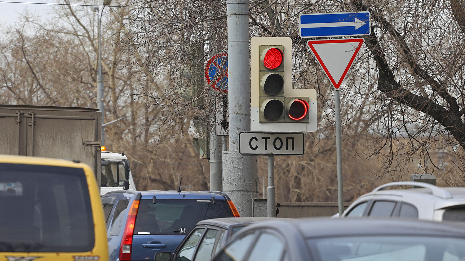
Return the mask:
<path id="1" fill-rule="evenodd" d="M 363 38 L 309 40 L 307 45 L 334 88 L 339 89 L 363 42 Z"/>

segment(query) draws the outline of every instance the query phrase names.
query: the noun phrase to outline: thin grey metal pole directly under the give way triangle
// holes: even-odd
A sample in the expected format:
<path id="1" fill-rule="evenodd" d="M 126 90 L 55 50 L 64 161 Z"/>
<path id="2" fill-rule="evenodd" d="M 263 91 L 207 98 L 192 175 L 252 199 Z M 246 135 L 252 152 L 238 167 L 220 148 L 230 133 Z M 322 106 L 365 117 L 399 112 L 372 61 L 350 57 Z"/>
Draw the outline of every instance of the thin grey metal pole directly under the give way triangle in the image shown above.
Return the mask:
<path id="1" fill-rule="evenodd" d="M 339 216 L 344 211 L 344 197 L 342 188 L 342 163 L 341 163 L 341 103 L 339 101 L 339 89 L 334 91 L 334 103 L 336 113 L 336 161 L 338 166 L 338 209 Z"/>

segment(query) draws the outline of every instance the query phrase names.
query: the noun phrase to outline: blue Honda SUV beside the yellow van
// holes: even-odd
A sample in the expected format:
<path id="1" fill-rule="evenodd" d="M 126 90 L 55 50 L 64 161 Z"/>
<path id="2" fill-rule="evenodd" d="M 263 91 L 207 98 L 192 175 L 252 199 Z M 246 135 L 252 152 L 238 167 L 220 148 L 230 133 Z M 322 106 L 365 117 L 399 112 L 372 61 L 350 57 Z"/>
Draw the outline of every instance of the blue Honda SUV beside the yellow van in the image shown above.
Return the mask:
<path id="1" fill-rule="evenodd" d="M 239 216 L 220 191 L 112 191 L 101 197 L 110 261 L 173 252 L 200 220 Z"/>

